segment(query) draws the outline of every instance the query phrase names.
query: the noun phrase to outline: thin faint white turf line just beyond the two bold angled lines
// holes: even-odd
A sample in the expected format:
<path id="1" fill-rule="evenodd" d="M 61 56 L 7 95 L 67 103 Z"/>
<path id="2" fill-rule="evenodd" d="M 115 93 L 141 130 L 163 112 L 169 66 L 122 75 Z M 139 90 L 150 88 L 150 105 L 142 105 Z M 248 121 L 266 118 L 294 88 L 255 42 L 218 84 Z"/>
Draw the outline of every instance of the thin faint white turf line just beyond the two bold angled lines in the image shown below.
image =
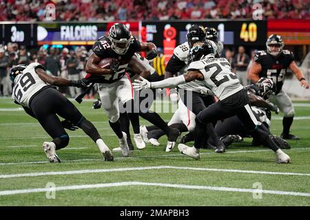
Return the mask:
<path id="1" fill-rule="evenodd" d="M 63 148 L 65 149 L 65 148 Z M 269 149 L 265 150 L 251 150 L 251 151 L 226 151 L 227 153 L 257 153 L 257 152 L 264 152 L 264 151 L 271 151 Z M 310 151 L 310 148 L 291 148 L 289 151 Z M 200 155 L 216 155 L 216 153 L 200 153 Z M 147 157 L 185 157 L 185 155 L 180 153 L 170 153 L 170 154 L 163 154 L 163 155 L 144 155 L 139 157 L 114 157 L 114 159 L 139 159 L 139 158 L 147 158 Z M 68 160 L 62 160 L 63 162 L 83 162 L 83 161 L 101 161 L 101 159 L 68 159 Z M 6 166 L 6 165 L 21 165 L 21 164 L 49 164 L 48 161 L 34 161 L 34 162 L 8 162 L 8 163 L 0 163 L 0 166 Z"/>

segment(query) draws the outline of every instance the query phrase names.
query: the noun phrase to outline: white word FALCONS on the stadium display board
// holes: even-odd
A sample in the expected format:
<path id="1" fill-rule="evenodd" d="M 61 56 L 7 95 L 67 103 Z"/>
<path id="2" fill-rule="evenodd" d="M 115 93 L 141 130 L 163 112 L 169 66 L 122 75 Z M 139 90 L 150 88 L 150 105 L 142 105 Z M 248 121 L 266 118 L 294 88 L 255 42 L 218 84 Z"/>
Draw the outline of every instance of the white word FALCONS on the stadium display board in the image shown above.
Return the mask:
<path id="1" fill-rule="evenodd" d="M 96 25 L 61 25 L 61 41 L 96 41 Z"/>

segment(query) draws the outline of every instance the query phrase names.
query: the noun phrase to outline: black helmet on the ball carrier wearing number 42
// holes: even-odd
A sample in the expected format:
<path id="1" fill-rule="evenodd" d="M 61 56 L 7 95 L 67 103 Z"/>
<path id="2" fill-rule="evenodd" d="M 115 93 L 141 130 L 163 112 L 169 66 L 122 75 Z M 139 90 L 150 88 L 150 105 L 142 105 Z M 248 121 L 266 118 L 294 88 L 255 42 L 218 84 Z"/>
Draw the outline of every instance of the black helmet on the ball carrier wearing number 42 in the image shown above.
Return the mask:
<path id="1" fill-rule="evenodd" d="M 112 45 L 111 48 L 116 54 L 123 55 L 134 40 L 132 32 L 123 23 L 114 23 L 109 30 L 108 35 Z"/>

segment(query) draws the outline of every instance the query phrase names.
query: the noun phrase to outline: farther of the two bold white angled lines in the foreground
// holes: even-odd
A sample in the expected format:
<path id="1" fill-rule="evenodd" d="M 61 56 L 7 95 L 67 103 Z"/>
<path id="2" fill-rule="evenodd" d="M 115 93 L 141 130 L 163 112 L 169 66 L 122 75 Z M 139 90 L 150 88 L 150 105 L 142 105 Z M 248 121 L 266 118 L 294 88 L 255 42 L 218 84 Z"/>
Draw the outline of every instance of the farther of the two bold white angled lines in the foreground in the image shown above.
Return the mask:
<path id="1" fill-rule="evenodd" d="M 109 172 L 123 172 L 132 170 L 160 170 L 160 169 L 200 170 L 200 171 L 216 171 L 225 173 L 253 173 L 253 174 L 267 174 L 267 175 L 296 175 L 296 176 L 310 177 L 310 173 L 288 173 L 288 172 L 273 172 L 273 171 L 260 171 L 260 170 L 234 170 L 234 169 L 200 168 L 200 167 L 187 167 L 187 166 L 141 166 L 141 167 L 107 168 L 107 169 L 49 171 L 40 173 L 16 173 L 16 174 L 0 175 L 0 179 L 8 179 L 14 177 L 39 177 L 47 175 L 72 175 L 72 174 L 85 174 L 85 173 L 109 173 Z"/>

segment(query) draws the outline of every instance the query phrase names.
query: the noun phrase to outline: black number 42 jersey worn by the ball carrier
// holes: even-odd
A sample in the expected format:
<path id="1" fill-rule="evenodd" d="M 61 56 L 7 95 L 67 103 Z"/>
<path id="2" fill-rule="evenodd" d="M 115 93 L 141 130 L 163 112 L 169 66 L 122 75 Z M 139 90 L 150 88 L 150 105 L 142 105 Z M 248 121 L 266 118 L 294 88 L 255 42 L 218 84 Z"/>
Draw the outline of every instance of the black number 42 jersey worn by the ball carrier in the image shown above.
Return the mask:
<path id="1" fill-rule="evenodd" d="M 105 78 L 104 80 L 100 80 L 98 83 L 114 83 L 117 80 L 121 79 L 125 75 L 125 71 L 127 68 L 128 63 L 130 62 L 134 53 L 140 52 L 141 44 L 134 36 L 134 41 L 130 43 L 130 47 L 128 48 L 127 52 L 123 55 L 116 54 L 114 50 L 111 48 L 111 41 L 107 36 L 101 36 L 92 47 L 94 54 L 99 56 L 101 59 L 104 58 L 116 58 L 120 63 L 117 72 L 112 75 L 103 75 Z"/>

